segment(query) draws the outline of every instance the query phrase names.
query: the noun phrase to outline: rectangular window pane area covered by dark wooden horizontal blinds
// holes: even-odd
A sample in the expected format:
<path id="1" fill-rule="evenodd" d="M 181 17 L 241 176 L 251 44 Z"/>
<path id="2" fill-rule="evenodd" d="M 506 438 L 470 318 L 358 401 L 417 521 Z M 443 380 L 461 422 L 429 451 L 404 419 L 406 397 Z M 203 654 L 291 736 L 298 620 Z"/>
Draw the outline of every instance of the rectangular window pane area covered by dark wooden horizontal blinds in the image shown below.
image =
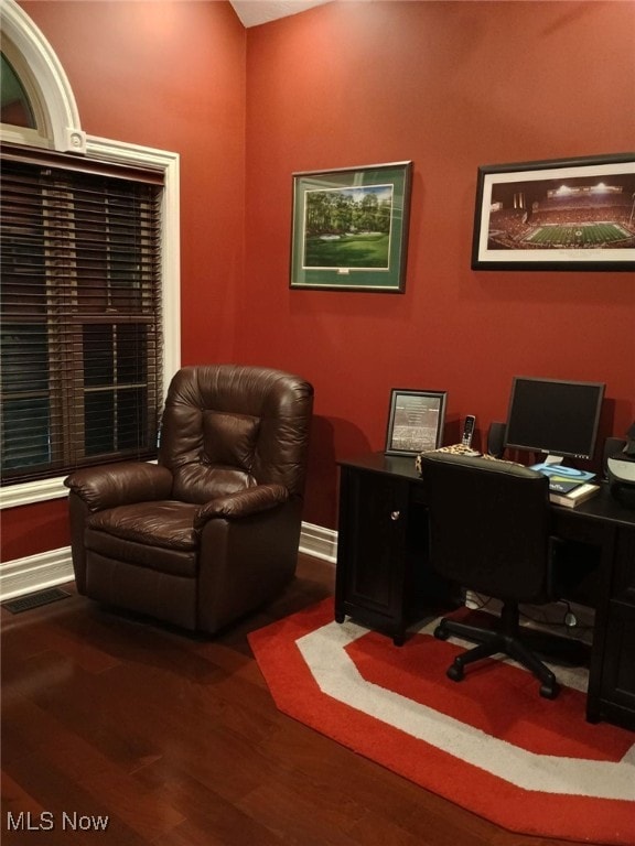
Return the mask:
<path id="1" fill-rule="evenodd" d="M 2 485 L 155 454 L 163 174 L 2 161 Z"/>

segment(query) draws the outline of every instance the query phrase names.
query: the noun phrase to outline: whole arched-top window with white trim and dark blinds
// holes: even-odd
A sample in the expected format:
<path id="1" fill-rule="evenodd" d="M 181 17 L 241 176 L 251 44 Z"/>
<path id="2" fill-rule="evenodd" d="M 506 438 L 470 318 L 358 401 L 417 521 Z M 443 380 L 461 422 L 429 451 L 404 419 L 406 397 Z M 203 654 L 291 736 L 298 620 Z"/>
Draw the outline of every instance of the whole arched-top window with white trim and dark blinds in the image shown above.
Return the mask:
<path id="1" fill-rule="evenodd" d="M 151 455 L 180 364 L 180 280 L 179 156 L 86 135 L 58 59 L 14 0 L 1 30 L 4 508 L 65 496 L 76 464 Z M 139 254 L 138 229 L 153 239 Z"/>

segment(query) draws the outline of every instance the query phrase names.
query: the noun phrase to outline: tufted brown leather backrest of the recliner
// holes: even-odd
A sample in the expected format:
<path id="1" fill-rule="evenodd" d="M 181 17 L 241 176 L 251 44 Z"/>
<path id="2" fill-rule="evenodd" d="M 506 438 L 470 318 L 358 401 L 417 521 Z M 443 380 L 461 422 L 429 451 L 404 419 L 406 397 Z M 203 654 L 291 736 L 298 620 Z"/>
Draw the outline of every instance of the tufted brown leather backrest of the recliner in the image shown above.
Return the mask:
<path id="1" fill-rule="evenodd" d="M 202 503 L 255 485 L 302 497 L 313 388 L 263 367 L 184 367 L 165 400 L 159 463 L 175 499 Z"/>

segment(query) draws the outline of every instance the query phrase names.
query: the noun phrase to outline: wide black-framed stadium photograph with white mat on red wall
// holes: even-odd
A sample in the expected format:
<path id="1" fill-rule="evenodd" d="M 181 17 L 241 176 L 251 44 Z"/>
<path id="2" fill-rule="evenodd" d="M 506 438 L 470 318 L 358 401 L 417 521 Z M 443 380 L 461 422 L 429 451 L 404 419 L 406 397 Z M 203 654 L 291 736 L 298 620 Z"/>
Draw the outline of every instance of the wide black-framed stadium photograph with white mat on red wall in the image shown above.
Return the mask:
<path id="1" fill-rule="evenodd" d="M 635 270 L 635 153 L 478 167 L 473 270 Z"/>

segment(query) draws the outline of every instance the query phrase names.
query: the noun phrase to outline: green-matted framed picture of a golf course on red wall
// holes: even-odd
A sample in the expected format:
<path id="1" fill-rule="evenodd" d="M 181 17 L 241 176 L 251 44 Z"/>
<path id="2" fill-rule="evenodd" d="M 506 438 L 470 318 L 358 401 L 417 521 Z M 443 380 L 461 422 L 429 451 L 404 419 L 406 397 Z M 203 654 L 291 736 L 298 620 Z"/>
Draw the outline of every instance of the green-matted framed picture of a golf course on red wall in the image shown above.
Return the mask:
<path id="1" fill-rule="evenodd" d="M 290 286 L 403 293 L 411 169 L 294 173 Z"/>

